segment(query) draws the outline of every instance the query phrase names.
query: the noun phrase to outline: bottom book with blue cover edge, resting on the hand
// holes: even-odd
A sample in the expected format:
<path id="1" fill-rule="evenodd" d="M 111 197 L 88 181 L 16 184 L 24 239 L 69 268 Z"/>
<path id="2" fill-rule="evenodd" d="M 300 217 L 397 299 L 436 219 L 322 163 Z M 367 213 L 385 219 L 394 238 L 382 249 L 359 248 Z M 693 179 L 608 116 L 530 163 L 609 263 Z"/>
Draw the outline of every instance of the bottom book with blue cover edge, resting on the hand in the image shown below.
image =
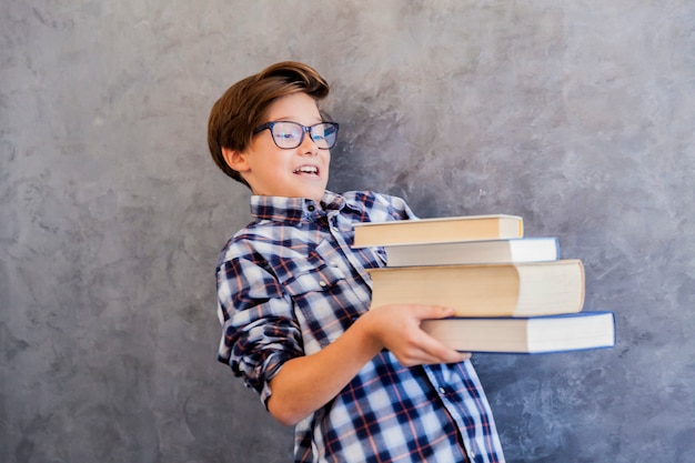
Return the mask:
<path id="1" fill-rule="evenodd" d="M 422 329 L 461 352 L 533 354 L 615 345 L 613 312 L 424 320 Z"/>

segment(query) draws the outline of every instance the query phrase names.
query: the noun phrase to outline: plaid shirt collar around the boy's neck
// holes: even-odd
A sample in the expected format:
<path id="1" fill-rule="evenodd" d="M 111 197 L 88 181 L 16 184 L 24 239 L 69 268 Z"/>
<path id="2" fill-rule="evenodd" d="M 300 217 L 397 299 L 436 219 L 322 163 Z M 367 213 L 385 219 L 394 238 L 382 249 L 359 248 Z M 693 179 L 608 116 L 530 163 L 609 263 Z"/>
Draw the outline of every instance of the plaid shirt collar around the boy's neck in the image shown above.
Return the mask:
<path id="1" fill-rule="evenodd" d="M 270 220 L 273 222 L 301 222 L 318 217 L 321 211 L 326 214 L 339 212 L 346 204 L 345 198 L 325 191 L 320 203 L 306 198 L 284 197 L 251 197 L 251 214 L 256 222 Z"/>

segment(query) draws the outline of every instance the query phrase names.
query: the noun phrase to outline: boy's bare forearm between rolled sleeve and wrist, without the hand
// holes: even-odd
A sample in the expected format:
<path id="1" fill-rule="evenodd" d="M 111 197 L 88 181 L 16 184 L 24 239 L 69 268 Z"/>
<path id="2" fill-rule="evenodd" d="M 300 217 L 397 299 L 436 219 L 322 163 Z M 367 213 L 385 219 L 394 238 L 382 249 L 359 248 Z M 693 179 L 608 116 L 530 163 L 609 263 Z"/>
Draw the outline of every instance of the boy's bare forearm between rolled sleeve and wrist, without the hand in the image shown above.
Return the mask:
<path id="1" fill-rule="evenodd" d="M 338 395 L 382 349 L 370 334 L 366 320 L 357 319 L 323 350 L 282 366 L 270 383 L 270 413 L 283 424 L 295 424 Z"/>

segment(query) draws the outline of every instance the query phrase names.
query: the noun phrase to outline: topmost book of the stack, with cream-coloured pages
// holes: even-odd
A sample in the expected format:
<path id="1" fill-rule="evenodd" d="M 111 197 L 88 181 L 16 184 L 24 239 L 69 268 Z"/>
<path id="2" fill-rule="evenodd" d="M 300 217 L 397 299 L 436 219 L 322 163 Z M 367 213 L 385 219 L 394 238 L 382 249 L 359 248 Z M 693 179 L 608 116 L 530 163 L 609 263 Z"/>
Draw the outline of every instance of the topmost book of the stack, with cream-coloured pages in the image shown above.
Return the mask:
<path id="1" fill-rule="evenodd" d="M 361 222 L 354 224 L 355 248 L 444 241 L 483 241 L 522 238 L 521 217 L 462 215 L 451 218 Z"/>

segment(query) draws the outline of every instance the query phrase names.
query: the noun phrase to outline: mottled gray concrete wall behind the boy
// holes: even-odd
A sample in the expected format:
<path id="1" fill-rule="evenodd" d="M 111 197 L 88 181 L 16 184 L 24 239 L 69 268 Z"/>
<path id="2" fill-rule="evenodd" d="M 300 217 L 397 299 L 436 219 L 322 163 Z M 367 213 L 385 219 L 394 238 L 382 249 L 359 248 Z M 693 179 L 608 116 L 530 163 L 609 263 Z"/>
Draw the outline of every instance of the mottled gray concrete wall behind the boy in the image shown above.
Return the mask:
<path id="1" fill-rule="evenodd" d="M 332 83 L 333 190 L 514 213 L 586 266 L 615 349 L 477 355 L 510 462 L 695 462 L 695 3 L 2 0 L 0 461 L 286 462 L 215 354 L 249 193 L 213 101 Z"/>

